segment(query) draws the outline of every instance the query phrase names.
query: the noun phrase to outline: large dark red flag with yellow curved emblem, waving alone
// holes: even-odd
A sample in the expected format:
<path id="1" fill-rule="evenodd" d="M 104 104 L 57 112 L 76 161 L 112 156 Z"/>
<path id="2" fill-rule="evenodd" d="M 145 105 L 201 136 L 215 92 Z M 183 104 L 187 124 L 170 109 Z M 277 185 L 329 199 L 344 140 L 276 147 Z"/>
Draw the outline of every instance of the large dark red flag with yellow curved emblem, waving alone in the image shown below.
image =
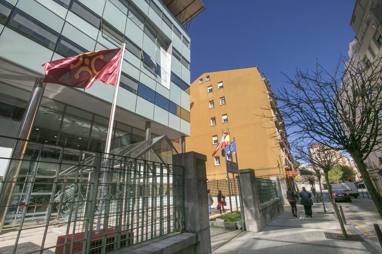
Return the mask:
<path id="1" fill-rule="evenodd" d="M 94 81 L 117 85 L 122 49 L 87 52 L 42 65 L 44 83 L 89 88 Z"/>

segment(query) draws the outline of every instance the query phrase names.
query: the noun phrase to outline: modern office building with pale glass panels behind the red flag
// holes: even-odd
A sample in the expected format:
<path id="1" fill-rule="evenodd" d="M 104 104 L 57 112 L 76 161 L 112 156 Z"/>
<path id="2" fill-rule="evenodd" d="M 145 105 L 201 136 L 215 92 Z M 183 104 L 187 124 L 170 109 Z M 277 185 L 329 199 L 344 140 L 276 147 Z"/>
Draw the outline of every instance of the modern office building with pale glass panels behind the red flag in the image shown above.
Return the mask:
<path id="1" fill-rule="evenodd" d="M 42 64 L 124 41 L 111 148 L 143 141 L 146 121 L 152 138 L 188 136 L 191 39 L 165 3 L 0 0 L 0 135 L 16 136 Z M 113 91 L 100 81 L 86 90 L 47 84 L 30 139 L 103 150 Z M 11 149 L 3 142 L 2 157 Z M 0 163 L 0 176 L 4 170 Z"/>

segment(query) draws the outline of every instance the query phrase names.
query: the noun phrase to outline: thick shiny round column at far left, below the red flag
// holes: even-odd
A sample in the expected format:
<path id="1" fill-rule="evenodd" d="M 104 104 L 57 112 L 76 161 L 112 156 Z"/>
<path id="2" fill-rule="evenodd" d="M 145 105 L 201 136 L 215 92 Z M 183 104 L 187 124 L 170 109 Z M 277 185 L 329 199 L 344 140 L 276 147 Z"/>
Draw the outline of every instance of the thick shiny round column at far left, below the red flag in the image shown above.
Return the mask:
<path id="1" fill-rule="evenodd" d="M 29 139 L 29 135 L 31 134 L 33 122 L 36 118 L 45 91 L 46 84 L 42 83 L 42 80 L 42 78 L 37 78 L 36 82 L 34 83 L 31 97 L 29 97 L 29 102 L 24 112 L 19 132 L 17 134 L 17 138 L 19 139 Z M 27 145 L 27 141 L 16 141 L 13 149 L 12 159 L 23 159 Z M 4 175 L 4 183 L 0 191 L 0 232 L 2 231 L 5 215 L 8 211 L 8 205 L 11 201 L 13 189 L 15 188 L 15 183 L 12 182 L 16 181 L 18 178 L 20 165 L 21 161 L 12 160 Z"/>

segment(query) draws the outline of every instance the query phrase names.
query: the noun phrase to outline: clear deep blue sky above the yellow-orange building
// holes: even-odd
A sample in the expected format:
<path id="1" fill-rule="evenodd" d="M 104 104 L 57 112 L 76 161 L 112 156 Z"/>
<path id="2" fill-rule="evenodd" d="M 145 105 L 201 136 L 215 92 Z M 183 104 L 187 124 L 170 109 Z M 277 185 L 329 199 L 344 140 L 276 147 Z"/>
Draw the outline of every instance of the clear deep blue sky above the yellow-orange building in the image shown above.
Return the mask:
<path id="1" fill-rule="evenodd" d="M 204 72 L 258 66 L 276 91 L 286 85 L 281 72 L 311 70 L 316 58 L 331 69 L 354 38 L 354 2 L 204 0 L 189 29 L 191 82 Z"/>

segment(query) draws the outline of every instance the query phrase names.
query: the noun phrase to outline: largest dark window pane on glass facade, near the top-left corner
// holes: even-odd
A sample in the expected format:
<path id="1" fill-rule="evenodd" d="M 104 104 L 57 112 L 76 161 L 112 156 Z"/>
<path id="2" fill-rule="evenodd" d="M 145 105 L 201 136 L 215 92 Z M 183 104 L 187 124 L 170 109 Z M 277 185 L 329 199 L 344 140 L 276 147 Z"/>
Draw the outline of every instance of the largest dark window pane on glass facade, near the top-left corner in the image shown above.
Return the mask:
<path id="1" fill-rule="evenodd" d="M 8 27 L 52 50 L 59 35 L 58 32 L 18 9 L 13 11 Z"/>

